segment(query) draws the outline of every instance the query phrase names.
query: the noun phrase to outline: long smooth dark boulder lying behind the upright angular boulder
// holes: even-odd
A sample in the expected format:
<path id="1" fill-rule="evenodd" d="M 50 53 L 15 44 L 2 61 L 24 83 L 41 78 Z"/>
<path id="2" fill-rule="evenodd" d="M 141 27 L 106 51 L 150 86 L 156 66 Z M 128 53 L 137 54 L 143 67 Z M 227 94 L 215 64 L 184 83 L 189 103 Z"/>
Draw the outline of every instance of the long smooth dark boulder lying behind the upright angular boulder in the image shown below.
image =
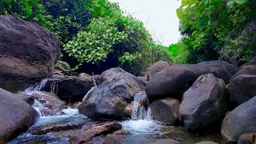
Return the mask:
<path id="1" fill-rule="evenodd" d="M 182 94 L 199 76 L 211 73 L 229 82 L 231 76 L 237 71 L 237 66 L 223 61 L 169 66 L 150 79 L 146 85 L 146 94 L 150 102 L 160 98 L 181 99 Z"/>

